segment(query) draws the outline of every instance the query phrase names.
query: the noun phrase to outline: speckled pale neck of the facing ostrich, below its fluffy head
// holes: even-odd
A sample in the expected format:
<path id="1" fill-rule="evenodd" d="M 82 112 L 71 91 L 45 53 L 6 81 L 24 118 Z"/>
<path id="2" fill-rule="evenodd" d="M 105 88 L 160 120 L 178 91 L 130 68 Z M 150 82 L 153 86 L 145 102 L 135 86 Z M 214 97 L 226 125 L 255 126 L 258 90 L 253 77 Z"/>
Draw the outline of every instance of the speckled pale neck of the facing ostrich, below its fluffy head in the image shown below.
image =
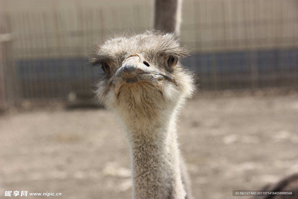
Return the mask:
<path id="1" fill-rule="evenodd" d="M 134 119 L 126 123 L 134 199 L 185 198 L 173 114 L 151 118 L 139 127 Z"/>

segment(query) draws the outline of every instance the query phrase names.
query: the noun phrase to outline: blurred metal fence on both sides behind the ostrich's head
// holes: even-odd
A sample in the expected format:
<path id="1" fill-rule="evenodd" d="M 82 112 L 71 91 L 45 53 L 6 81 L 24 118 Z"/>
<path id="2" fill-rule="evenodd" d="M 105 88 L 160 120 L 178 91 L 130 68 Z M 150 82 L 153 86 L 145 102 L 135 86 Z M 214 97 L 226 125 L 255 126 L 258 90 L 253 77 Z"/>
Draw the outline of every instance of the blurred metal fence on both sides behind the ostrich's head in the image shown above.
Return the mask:
<path id="1" fill-rule="evenodd" d="M 298 1 L 184 1 L 184 65 L 203 89 L 298 86 Z M 2 13 L 0 109 L 24 99 L 88 93 L 99 67 L 87 64 L 96 38 L 150 29 L 151 3 Z"/>

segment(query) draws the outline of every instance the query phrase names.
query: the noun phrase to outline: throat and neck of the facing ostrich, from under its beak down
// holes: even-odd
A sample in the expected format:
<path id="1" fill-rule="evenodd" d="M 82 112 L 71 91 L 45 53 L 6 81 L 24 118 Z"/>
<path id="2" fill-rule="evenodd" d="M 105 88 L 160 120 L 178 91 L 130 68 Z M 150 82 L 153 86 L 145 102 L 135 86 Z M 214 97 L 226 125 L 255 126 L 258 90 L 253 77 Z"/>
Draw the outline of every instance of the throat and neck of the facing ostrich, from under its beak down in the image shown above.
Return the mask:
<path id="1" fill-rule="evenodd" d="M 141 82 L 119 89 L 115 108 L 130 145 L 134 199 L 186 196 L 176 134 L 179 93 L 171 100 L 166 88 L 163 93 Z"/>

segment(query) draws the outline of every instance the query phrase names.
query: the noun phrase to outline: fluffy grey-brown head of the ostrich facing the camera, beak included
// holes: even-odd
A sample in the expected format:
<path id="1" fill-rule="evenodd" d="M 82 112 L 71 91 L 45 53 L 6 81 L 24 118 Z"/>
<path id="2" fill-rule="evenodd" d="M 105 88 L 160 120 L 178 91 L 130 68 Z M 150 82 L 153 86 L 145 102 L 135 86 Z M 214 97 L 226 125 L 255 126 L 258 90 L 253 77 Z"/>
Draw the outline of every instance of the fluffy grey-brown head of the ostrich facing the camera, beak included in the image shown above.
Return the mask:
<path id="1" fill-rule="evenodd" d="M 180 62 L 189 53 L 178 35 L 160 31 L 98 42 L 90 58 L 104 72 L 96 96 L 122 120 L 138 117 L 142 124 L 159 111 L 177 110 L 194 90 L 193 75 Z"/>

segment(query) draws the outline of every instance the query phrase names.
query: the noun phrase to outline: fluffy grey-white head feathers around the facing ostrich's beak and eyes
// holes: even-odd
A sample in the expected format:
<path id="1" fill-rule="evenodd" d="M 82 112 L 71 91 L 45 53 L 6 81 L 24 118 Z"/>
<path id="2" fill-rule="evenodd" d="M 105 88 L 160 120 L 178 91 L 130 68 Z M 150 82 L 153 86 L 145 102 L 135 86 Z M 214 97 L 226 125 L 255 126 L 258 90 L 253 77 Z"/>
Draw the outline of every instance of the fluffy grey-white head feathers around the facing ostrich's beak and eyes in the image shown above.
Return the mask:
<path id="1" fill-rule="evenodd" d="M 132 54 L 141 54 L 150 64 L 150 67 L 155 67 L 157 70 L 171 75 L 173 79 L 162 80 L 161 88 L 147 82 L 124 85 L 120 88 L 117 96 L 114 87 L 109 85 L 108 82 L 121 67 L 122 62 Z M 127 118 L 128 112 L 131 111 L 152 113 L 156 110 L 175 110 L 184 103 L 186 98 L 193 94 L 195 89 L 193 75 L 180 63 L 181 58 L 188 55 L 190 55 L 190 51 L 182 43 L 179 35 L 175 33 L 153 30 L 139 35 L 114 35 L 99 41 L 94 45 L 90 64 L 97 66 L 107 62 L 111 67 L 111 74 L 103 73 L 100 75 L 98 82 L 95 84 L 95 94 L 98 100 L 108 109 L 120 113 L 124 111 L 122 108 L 125 108 L 125 118 Z M 169 57 L 178 59 L 178 63 L 173 70 L 166 65 L 166 60 Z M 128 109 L 132 108 L 129 104 L 132 103 L 135 105 L 134 110 L 129 111 Z M 148 115 L 145 114 L 142 117 L 147 120 L 150 117 L 150 114 Z"/>

